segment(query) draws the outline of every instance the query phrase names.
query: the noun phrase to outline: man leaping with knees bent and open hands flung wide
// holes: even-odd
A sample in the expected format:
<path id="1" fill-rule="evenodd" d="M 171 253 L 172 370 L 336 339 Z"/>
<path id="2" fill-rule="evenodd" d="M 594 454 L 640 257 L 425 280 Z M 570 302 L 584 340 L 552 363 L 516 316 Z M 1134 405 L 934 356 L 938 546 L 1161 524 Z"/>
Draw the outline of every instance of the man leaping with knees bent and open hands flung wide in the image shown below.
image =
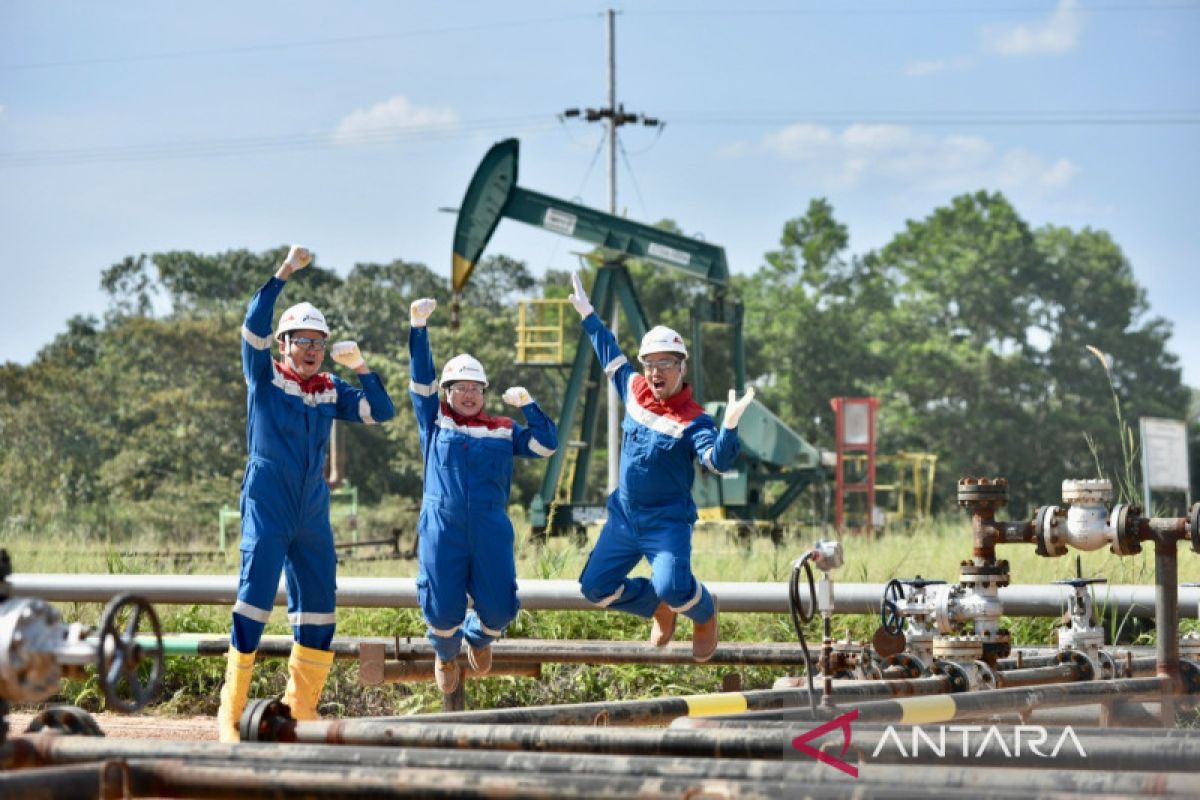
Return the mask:
<path id="1" fill-rule="evenodd" d="M 608 519 L 580 576 L 583 596 L 601 608 L 629 612 L 654 625 L 650 643 L 666 646 L 676 618 L 695 624 L 691 652 L 708 661 L 716 650 L 716 599 L 691 572 L 691 499 L 694 463 L 722 473 L 738 455 L 738 420 L 754 401 L 754 389 L 742 399 L 730 391 L 725 420 L 718 431 L 691 397 L 688 347 L 683 337 L 658 325 L 642 337 L 638 374 L 617 339 L 595 315 L 578 275 L 571 276 L 571 305 L 583 319 L 600 366 L 625 404 L 622 422 L 620 481 L 608 495 Z M 630 578 L 644 558 L 650 578 Z"/>

